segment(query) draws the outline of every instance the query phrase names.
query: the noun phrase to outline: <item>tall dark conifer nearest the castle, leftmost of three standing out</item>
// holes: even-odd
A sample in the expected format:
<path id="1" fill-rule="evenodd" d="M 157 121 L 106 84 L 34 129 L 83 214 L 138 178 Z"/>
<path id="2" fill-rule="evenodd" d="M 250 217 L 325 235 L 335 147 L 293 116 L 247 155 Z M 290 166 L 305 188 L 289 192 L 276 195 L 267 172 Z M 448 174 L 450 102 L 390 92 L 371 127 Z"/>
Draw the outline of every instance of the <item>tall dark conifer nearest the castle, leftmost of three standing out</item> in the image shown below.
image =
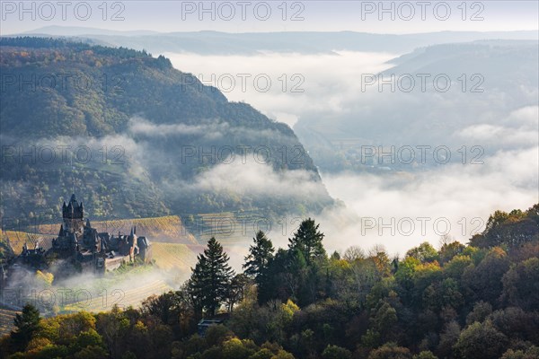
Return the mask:
<path id="1" fill-rule="evenodd" d="M 208 248 L 204 250 L 204 254 L 199 254 L 198 258 L 195 268 L 191 268 L 191 298 L 198 311 L 206 311 L 210 316 L 214 316 L 221 303 L 226 300 L 234 270 L 228 266 L 228 255 L 214 237 L 208 241 Z"/>

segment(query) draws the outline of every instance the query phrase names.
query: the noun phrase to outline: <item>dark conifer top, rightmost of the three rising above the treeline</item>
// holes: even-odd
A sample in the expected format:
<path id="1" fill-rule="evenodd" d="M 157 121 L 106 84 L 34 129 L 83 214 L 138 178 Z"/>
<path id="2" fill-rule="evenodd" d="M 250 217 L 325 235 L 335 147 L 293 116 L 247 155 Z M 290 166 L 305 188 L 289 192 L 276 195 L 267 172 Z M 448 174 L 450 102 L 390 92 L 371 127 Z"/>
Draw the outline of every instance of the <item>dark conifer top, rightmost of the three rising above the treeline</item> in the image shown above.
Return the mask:
<path id="1" fill-rule="evenodd" d="M 314 258 L 326 255 L 322 244 L 324 235 L 323 232 L 318 231 L 319 226 L 320 224 L 314 223 L 314 219 L 305 219 L 299 224 L 294 238 L 288 240 L 288 249 L 301 252 L 307 265 L 310 265 Z"/>

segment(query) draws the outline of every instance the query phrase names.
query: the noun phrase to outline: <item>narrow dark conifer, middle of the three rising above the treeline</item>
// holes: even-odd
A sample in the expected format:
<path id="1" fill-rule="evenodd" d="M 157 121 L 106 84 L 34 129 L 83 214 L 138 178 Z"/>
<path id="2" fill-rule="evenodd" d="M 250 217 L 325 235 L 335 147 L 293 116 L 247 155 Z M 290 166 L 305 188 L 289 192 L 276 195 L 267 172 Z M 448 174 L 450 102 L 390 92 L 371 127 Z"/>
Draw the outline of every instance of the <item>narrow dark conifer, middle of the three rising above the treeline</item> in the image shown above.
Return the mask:
<path id="1" fill-rule="evenodd" d="M 245 269 L 245 275 L 252 277 L 255 283 L 260 285 L 262 276 L 264 276 L 264 272 L 270 265 L 275 249 L 262 231 L 257 232 L 252 241 L 254 244 L 249 247 L 249 255 L 245 257 L 243 269 Z"/>

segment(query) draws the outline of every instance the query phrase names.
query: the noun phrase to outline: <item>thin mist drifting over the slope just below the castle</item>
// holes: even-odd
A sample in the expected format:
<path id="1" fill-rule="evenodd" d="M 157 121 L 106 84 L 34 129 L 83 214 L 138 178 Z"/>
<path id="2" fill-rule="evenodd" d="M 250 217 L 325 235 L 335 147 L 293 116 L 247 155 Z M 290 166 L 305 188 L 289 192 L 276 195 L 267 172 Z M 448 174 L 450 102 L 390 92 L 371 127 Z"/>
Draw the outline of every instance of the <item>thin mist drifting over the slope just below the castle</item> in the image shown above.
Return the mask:
<path id="1" fill-rule="evenodd" d="M 54 267 L 61 265 L 58 261 Z M 175 268 L 165 271 L 158 267 L 133 267 L 131 270 L 72 274 L 54 278 L 49 271 L 41 272 L 13 268 L 9 285 L 2 290 L 2 304 L 13 309 L 32 303 L 43 313 L 60 311 L 110 311 L 137 307 L 147 297 L 177 289 L 189 278 L 187 270 Z"/>

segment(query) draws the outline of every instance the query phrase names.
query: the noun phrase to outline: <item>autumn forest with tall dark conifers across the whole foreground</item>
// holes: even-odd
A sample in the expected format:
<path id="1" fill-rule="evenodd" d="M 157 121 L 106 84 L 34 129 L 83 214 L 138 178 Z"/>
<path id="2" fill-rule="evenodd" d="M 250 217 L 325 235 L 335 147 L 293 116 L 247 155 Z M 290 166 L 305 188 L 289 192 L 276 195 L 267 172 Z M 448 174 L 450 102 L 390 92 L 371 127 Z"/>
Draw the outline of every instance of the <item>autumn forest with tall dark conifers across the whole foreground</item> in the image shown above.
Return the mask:
<path id="1" fill-rule="evenodd" d="M 287 249 L 257 232 L 235 274 L 216 239 L 190 279 L 139 309 L 40 319 L 2 339 L 11 358 L 539 357 L 539 204 L 497 211 L 467 245 L 443 238 L 390 258 L 328 255 L 313 219 Z M 222 320 L 199 334 L 201 319 Z M 9 356 L 11 355 L 11 356 Z"/>

